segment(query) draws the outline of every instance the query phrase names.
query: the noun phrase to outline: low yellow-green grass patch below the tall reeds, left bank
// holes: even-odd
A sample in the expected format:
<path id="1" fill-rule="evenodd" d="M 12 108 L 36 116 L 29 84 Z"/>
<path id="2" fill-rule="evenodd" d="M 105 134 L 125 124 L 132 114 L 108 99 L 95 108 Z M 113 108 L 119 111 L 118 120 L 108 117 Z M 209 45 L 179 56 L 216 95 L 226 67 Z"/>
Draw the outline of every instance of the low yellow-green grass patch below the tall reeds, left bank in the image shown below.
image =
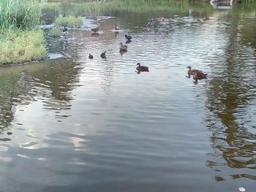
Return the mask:
<path id="1" fill-rule="evenodd" d="M 45 58 L 45 38 L 42 31 L 9 31 L 0 42 L 0 64 L 23 63 Z"/>

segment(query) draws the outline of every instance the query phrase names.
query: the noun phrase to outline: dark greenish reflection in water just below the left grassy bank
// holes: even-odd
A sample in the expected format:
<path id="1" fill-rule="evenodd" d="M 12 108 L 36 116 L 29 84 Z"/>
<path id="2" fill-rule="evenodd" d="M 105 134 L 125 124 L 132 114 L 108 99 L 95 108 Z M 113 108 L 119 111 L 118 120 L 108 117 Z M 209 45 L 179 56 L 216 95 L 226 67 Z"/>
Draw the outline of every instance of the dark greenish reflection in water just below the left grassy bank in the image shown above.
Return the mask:
<path id="1" fill-rule="evenodd" d="M 10 126 L 15 105 L 29 104 L 35 96 L 40 97 L 48 109 L 70 109 L 70 91 L 77 85 L 80 68 L 67 60 L 53 62 L 0 71 L 0 128 Z"/>

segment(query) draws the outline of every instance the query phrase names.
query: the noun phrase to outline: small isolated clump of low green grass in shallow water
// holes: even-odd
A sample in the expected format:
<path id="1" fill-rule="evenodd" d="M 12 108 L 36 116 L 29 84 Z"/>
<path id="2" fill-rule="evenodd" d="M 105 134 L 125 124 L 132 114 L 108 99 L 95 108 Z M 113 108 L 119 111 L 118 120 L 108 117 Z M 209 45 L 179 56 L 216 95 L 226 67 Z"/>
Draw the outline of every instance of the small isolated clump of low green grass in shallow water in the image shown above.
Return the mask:
<path id="1" fill-rule="evenodd" d="M 74 16 L 60 16 L 59 18 L 56 18 L 56 20 L 54 20 L 54 23 L 56 26 L 67 26 L 69 28 L 73 28 L 82 26 L 83 21 L 81 17 L 76 18 Z"/>

